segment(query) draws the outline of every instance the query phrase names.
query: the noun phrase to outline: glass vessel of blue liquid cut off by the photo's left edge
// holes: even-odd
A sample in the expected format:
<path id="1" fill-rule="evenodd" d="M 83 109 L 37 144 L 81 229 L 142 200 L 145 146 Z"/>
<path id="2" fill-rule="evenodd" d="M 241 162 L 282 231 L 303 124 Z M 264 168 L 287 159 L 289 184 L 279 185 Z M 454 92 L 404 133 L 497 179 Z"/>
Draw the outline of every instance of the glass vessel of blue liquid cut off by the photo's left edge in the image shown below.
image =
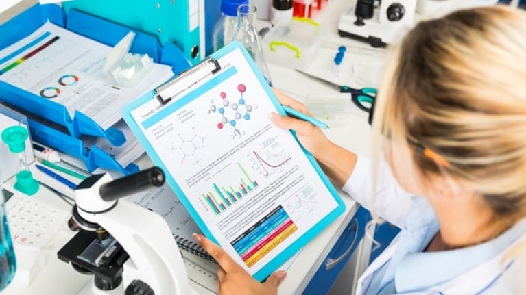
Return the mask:
<path id="1" fill-rule="evenodd" d="M 0 183 L 0 291 L 11 283 L 16 270 L 16 258 L 4 203 L 5 196 Z"/>

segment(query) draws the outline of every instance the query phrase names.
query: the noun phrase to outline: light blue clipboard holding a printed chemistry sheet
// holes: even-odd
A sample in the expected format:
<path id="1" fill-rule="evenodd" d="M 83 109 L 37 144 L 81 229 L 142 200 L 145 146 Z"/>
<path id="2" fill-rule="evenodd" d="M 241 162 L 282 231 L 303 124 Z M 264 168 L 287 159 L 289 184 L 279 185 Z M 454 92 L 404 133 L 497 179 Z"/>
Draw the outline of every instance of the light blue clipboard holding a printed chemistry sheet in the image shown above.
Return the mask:
<path id="1" fill-rule="evenodd" d="M 259 281 L 345 209 L 314 157 L 294 132 L 270 123 L 270 112 L 285 115 L 239 42 L 123 108 L 204 234 Z"/>

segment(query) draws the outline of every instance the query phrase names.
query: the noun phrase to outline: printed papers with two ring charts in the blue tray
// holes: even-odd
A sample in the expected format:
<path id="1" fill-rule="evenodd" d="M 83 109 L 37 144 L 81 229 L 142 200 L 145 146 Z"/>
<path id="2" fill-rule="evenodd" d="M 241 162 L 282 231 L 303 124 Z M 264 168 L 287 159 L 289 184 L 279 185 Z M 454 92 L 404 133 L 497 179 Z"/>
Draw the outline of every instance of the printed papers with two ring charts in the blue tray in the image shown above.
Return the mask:
<path id="1" fill-rule="evenodd" d="M 103 129 L 121 119 L 121 108 L 169 79 L 170 66 L 154 64 L 133 89 L 106 83 L 101 68 L 112 47 L 51 23 L 0 51 L 0 80 L 78 110 Z"/>

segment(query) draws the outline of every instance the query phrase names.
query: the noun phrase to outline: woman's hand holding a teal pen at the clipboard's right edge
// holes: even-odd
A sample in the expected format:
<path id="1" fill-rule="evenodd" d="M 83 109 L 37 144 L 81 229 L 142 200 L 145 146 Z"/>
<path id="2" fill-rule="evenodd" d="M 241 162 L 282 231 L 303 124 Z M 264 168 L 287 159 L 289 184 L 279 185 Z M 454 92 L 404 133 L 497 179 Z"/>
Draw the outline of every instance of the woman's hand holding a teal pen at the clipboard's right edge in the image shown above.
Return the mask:
<path id="1" fill-rule="evenodd" d="M 276 89 L 273 90 L 274 94 L 276 94 L 276 97 L 278 97 L 278 100 L 282 105 L 287 105 L 302 112 L 303 114 L 312 116 L 311 112 L 307 110 L 307 107 L 305 107 L 303 103 L 287 97 L 287 95 L 279 92 Z M 272 113 L 270 118 L 274 125 L 283 129 L 291 129 L 296 131 L 298 140 L 300 140 L 304 148 L 307 149 L 307 151 L 309 151 L 315 158 L 318 158 L 327 151 L 329 146 L 333 145 L 333 142 L 328 140 L 320 128 L 315 127 L 309 122 L 291 118 L 289 116 L 280 116 L 276 113 Z"/>

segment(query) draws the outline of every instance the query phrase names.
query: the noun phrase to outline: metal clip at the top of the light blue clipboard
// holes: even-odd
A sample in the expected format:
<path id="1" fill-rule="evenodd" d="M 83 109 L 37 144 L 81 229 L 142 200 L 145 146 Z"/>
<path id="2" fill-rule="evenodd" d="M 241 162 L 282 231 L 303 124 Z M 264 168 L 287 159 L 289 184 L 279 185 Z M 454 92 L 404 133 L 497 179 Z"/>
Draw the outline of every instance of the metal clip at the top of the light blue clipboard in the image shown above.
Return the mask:
<path id="1" fill-rule="evenodd" d="M 213 65 L 213 68 L 211 70 L 208 70 L 210 68 L 210 65 Z M 202 77 L 199 77 L 198 79 L 192 79 L 189 81 L 188 84 L 182 84 L 182 81 L 184 78 L 190 77 L 191 75 L 200 72 L 201 70 L 204 70 L 205 74 Z M 208 57 L 206 60 L 203 60 L 200 62 L 200 64 L 196 64 L 195 66 L 191 67 L 189 70 L 184 70 L 181 72 L 177 77 L 167 81 L 165 84 L 159 86 L 158 88 L 155 88 L 154 91 L 156 93 L 156 97 L 158 101 L 164 105 L 171 101 L 172 97 L 176 97 L 185 90 L 188 90 L 195 84 L 198 84 L 202 79 L 206 79 L 206 77 L 210 75 L 215 75 L 215 73 L 219 72 L 221 70 L 221 66 L 219 65 L 219 62 L 213 57 Z M 181 82 L 181 83 L 180 83 Z M 181 87 L 176 87 L 176 84 L 182 84 Z"/>

